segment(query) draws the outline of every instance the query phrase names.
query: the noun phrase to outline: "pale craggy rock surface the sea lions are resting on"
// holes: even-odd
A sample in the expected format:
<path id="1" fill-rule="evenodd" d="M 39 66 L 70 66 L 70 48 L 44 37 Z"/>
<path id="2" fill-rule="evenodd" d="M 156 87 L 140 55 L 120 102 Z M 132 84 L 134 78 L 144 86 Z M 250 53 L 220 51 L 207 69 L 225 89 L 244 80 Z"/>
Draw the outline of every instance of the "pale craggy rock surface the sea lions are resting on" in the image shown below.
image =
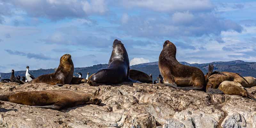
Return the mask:
<path id="1" fill-rule="evenodd" d="M 2 128 L 256 128 L 256 101 L 236 95 L 208 95 L 162 84 L 120 86 L 0 83 L 0 95 L 22 91 L 70 90 L 91 93 L 100 106 L 60 111 L 0 102 Z M 256 96 L 256 87 L 247 88 Z"/>

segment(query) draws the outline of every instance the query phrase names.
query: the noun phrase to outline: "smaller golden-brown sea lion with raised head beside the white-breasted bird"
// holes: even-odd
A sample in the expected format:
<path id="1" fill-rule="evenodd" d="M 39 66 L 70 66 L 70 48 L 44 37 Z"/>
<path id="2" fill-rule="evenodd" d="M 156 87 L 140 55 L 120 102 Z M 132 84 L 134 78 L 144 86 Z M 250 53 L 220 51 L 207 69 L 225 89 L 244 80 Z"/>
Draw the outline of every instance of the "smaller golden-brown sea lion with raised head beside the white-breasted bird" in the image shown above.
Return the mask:
<path id="1" fill-rule="evenodd" d="M 60 65 L 55 73 L 38 76 L 28 84 L 45 83 L 51 85 L 69 84 L 74 73 L 74 64 L 70 54 L 65 54 L 60 58 Z"/>

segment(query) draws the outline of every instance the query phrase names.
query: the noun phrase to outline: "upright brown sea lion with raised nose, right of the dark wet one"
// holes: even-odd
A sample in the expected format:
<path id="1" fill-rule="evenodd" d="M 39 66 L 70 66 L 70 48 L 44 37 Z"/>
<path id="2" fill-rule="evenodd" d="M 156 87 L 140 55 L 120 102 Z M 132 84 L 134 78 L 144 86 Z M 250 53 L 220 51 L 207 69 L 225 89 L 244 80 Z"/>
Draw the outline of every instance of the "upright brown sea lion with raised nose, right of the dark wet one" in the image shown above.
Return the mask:
<path id="1" fill-rule="evenodd" d="M 176 60 L 176 46 L 169 40 L 164 42 L 158 66 L 164 84 L 183 90 L 204 90 L 204 73 L 199 68 L 180 64 Z"/>

